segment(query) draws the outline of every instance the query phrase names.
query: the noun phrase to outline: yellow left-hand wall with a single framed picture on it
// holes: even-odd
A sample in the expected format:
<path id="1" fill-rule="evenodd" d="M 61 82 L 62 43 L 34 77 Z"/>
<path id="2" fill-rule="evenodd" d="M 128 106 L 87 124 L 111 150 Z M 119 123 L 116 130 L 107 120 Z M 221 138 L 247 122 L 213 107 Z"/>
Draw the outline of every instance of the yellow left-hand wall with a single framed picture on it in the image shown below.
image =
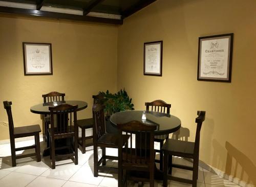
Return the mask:
<path id="1" fill-rule="evenodd" d="M 0 15 L 0 101 L 13 102 L 14 125 L 41 125 L 30 107 L 50 91 L 87 101 L 78 119 L 91 117 L 92 95 L 116 91 L 117 32 L 110 25 Z M 52 76 L 24 76 L 24 41 L 52 43 Z M 8 122 L 0 105 L 0 122 Z M 0 124 L 0 139 L 8 138 L 8 127 Z"/>

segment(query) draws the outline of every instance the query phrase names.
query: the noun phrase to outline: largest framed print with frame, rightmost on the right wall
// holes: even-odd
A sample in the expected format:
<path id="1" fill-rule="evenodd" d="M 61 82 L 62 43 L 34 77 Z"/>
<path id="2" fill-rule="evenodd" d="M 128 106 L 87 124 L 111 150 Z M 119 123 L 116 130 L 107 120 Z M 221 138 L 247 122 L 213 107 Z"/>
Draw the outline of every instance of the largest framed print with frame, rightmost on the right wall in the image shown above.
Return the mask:
<path id="1" fill-rule="evenodd" d="M 233 33 L 199 38 L 199 81 L 231 82 Z"/>

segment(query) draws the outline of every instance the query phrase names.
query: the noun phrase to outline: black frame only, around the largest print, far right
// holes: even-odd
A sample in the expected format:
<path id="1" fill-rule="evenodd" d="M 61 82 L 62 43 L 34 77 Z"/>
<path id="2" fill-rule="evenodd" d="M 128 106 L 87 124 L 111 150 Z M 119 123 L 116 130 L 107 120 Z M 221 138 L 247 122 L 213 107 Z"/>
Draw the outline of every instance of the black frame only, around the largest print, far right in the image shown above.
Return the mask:
<path id="1" fill-rule="evenodd" d="M 201 41 L 204 39 L 218 39 L 218 38 L 229 38 L 229 52 L 228 52 L 228 68 L 227 68 L 227 78 L 203 78 L 200 77 L 200 67 L 201 67 Z M 233 33 L 213 35 L 213 36 L 204 36 L 199 37 L 198 42 L 198 69 L 197 69 L 197 80 L 198 81 L 216 81 L 216 82 L 231 82 L 231 71 L 232 71 L 232 53 L 233 53 Z"/>

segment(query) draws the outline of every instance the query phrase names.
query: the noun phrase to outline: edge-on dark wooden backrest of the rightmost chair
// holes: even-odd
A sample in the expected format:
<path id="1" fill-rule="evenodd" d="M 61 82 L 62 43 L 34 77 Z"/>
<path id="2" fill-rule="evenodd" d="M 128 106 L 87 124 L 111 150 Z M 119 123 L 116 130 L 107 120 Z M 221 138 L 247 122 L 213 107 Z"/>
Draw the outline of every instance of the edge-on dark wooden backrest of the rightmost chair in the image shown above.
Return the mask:
<path id="1" fill-rule="evenodd" d="M 196 118 L 197 123 L 197 132 L 196 132 L 196 139 L 195 139 L 195 148 L 194 153 L 199 153 L 199 144 L 200 144 L 200 131 L 205 119 L 205 111 L 197 111 L 198 117 Z"/>

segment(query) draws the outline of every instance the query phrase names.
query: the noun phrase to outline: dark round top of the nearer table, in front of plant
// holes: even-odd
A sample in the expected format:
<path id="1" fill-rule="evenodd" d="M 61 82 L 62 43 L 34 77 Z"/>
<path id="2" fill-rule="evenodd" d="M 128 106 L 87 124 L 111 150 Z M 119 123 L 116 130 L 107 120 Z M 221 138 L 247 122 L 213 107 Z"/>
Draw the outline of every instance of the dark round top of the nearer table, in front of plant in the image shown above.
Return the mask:
<path id="1" fill-rule="evenodd" d="M 179 130 L 181 127 L 181 121 L 174 115 L 146 111 L 146 120 L 142 120 L 143 111 L 140 110 L 126 110 L 114 113 L 110 116 L 110 121 L 114 124 L 123 124 L 131 121 L 139 121 L 144 124 L 156 124 L 157 130 L 155 135 L 169 134 Z"/>

